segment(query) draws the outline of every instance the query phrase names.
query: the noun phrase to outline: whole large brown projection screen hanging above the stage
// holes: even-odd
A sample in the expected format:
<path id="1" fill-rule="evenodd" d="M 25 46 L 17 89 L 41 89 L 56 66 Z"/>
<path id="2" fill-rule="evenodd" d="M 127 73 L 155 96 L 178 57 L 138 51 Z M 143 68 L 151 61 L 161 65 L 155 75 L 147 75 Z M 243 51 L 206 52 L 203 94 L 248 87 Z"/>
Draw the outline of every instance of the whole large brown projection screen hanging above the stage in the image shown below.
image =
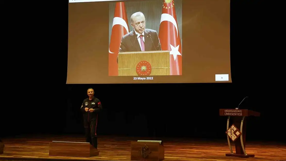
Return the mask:
<path id="1" fill-rule="evenodd" d="M 231 82 L 230 0 L 69 3 L 68 16 L 67 84 Z"/>

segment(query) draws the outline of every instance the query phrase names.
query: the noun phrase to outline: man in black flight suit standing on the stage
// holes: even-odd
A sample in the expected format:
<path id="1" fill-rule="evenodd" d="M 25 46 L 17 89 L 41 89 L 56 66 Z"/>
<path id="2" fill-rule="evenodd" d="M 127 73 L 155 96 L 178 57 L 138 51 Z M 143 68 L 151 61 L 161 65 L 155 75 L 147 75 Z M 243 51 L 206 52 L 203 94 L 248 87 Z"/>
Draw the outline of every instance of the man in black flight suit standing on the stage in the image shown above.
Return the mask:
<path id="1" fill-rule="evenodd" d="M 87 91 L 88 98 L 82 102 L 80 110 L 84 115 L 84 129 L 86 142 L 89 142 L 97 148 L 97 120 L 98 113 L 102 110 L 101 102 L 98 98 L 94 97 L 94 90 L 89 88 Z"/>

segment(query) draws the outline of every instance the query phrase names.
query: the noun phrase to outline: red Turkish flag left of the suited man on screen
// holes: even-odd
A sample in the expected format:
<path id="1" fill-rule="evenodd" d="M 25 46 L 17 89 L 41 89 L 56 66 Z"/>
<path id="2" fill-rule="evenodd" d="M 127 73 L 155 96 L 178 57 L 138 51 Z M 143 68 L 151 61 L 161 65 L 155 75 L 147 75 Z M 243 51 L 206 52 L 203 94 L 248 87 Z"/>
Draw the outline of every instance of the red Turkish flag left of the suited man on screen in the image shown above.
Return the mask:
<path id="1" fill-rule="evenodd" d="M 116 2 L 108 55 L 108 75 L 118 75 L 117 56 L 122 36 L 129 33 L 129 25 L 124 2 Z"/>

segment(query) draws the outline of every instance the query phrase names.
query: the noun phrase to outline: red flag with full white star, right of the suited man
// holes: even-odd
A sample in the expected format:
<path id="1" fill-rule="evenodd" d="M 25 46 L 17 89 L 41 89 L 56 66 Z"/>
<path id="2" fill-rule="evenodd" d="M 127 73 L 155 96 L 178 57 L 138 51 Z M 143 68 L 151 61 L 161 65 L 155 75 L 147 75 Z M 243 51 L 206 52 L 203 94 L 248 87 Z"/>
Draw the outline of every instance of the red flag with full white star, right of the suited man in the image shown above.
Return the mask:
<path id="1" fill-rule="evenodd" d="M 174 0 L 163 0 L 159 28 L 162 50 L 170 51 L 170 75 L 182 75 L 182 45 Z"/>

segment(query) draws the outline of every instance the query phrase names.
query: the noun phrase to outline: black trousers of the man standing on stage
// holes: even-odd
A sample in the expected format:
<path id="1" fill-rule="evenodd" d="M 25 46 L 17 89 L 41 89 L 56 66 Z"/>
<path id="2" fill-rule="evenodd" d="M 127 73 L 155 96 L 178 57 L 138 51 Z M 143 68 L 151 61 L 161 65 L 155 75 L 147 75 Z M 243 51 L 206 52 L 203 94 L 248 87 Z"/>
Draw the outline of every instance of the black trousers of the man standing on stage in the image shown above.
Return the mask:
<path id="1" fill-rule="evenodd" d="M 85 130 L 85 138 L 86 142 L 90 143 L 94 148 L 97 149 L 97 119 L 94 119 L 90 122 L 85 122 L 84 130 Z"/>

